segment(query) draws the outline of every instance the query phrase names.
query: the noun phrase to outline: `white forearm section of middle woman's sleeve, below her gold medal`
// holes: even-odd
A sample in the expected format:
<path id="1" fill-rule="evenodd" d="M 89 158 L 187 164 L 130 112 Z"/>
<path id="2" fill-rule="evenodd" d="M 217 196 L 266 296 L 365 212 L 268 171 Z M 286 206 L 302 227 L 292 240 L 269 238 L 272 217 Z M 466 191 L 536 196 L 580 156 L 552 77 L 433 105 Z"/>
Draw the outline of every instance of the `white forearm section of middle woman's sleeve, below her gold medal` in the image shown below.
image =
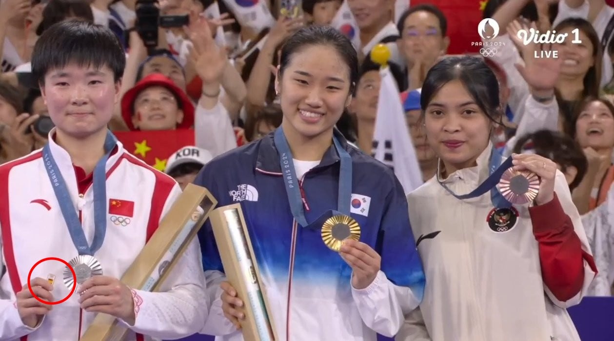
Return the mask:
<path id="1" fill-rule="evenodd" d="M 367 288 L 352 287 L 352 297 L 367 327 L 386 337 L 397 334 L 405 315 L 420 303 L 410 288 L 393 284 L 381 270 Z"/>

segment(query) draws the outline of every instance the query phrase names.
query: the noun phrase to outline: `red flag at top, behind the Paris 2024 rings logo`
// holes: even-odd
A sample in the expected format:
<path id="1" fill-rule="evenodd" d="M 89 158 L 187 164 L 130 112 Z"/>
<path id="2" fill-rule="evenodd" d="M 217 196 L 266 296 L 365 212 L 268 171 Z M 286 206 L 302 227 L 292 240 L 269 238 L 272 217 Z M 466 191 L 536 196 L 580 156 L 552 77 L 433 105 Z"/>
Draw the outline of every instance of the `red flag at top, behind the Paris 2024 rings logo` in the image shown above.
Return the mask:
<path id="1" fill-rule="evenodd" d="M 478 24 L 482 20 L 482 11 L 488 0 L 411 0 L 411 6 L 433 4 L 441 9 L 448 18 L 448 37 L 450 46 L 448 54 L 478 53 L 479 46 L 471 42 L 481 41 Z M 462 20 L 457 20 L 462 18 Z"/>

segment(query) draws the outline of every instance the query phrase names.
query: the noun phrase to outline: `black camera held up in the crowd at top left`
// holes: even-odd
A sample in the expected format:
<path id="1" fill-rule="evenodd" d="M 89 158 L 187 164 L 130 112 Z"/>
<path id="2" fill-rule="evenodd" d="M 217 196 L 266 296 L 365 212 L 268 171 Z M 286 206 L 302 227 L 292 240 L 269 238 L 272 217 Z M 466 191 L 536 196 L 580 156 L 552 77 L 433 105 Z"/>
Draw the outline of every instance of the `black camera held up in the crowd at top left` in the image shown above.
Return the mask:
<path id="1" fill-rule="evenodd" d="M 157 0 L 137 0 L 135 12 L 134 28 L 149 52 L 158 46 L 158 28 L 183 27 L 190 23 L 187 14 L 160 15 Z"/>

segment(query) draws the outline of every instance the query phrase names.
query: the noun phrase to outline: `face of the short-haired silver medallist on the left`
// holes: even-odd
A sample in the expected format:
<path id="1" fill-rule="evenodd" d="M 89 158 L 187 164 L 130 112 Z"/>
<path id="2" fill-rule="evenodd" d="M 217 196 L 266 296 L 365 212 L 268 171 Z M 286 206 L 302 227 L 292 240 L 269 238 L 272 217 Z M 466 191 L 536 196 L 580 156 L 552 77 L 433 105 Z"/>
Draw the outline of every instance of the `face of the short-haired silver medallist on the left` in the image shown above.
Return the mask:
<path id="1" fill-rule="evenodd" d="M 95 69 L 71 63 L 47 72 L 41 93 L 58 131 L 85 138 L 106 130 L 119 89 L 120 82 L 114 81 L 109 67 Z"/>

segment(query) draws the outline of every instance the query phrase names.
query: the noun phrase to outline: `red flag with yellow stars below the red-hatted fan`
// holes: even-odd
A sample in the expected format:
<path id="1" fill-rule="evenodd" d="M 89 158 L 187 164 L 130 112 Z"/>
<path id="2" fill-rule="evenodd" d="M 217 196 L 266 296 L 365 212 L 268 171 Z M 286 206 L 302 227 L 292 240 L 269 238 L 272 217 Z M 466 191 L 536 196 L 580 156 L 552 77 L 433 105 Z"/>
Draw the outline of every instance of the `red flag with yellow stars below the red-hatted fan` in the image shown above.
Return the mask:
<path id="1" fill-rule="evenodd" d="M 153 168 L 164 171 L 166 160 L 185 146 L 194 146 L 194 130 L 114 131 L 130 154 Z"/>

